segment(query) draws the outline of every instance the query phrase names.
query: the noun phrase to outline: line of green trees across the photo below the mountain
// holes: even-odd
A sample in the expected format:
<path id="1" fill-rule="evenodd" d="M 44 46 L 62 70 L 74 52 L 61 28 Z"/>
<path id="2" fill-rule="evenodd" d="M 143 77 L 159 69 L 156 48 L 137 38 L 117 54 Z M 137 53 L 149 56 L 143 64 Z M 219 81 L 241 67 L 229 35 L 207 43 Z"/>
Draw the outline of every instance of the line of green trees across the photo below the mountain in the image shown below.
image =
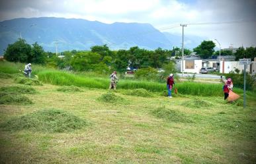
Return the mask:
<path id="1" fill-rule="evenodd" d="M 214 51 L 213 41 L 202 41 L 198 47 L 193 49 L 196 55 L 203 59 L 212 58 L 219 55 Z M 185 49 L 185 55 L 190 55 L 191 50 Z M 235 53 L 228 50 L 221 51 L 222 55 L 235 55 L 235 59 L 251 58 L 256 55 L 256 47 L 239 47 Z M 38 43 L 29 45 L 26 40 L 19 39 L 13 44 L 9 44 L 4 53 L 7 61 L 21 63 L 37 63 L 78 71 L 100 71 L 118 70 L 124 72 L 130 68 L 163 68 L 171 62 L 171 57 L 180 57 L 181 49 L 173 47 L 172 50 L 157 48 L 155 50 L 140 49 L 130 47 L 130 49 L 120 49 L 112 51 L 107 45 L 95 45 L 90 51 L 64 51 L 64 57 L 57 57 L 55 53 L 46 52 Z"/>

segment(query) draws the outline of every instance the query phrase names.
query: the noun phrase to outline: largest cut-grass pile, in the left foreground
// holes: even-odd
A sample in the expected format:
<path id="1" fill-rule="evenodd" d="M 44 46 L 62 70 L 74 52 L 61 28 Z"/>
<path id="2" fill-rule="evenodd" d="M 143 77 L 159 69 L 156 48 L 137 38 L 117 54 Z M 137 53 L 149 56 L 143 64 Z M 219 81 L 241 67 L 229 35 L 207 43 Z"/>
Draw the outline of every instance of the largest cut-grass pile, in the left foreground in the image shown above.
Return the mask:
<path id="1" fill-rule="evenodd" d="M 0 127 L 8 131 L 70 132 L 88 125 L 87 121 L 71 113 L 57 109 L 47 109 L 13 117 L 2 123 Z"/>

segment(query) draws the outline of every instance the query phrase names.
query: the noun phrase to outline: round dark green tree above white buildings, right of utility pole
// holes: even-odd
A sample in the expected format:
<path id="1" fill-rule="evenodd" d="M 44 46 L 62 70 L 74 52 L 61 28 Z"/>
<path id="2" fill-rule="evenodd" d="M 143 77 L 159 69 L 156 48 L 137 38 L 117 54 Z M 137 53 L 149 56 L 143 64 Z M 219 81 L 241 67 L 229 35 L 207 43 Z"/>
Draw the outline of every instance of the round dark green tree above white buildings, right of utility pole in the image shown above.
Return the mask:
<path id="1" fill-rule="evenodd" d="M 215 43 L 213 41 L 202 41 L 200 45 L 195 47 L 193 49 L 196 54 L 200 55 L 203 59 L 208 59 L 209 57 L 212 57 L 212 54 L 214 53 L 214 47 Z"/>

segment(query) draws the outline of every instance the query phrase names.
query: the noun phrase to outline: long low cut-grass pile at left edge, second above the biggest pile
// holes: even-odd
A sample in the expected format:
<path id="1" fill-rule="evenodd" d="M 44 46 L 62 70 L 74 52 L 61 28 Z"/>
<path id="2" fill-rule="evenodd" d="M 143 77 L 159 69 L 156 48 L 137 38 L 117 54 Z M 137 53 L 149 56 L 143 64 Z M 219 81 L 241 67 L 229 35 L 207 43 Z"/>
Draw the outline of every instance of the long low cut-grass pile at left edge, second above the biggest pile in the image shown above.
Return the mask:
<path id="1" fill-rule="evenodd" d="M 1 87 L 0 92 L 5 94 L 36 94 L 34 88 L 22 85 Z"/>

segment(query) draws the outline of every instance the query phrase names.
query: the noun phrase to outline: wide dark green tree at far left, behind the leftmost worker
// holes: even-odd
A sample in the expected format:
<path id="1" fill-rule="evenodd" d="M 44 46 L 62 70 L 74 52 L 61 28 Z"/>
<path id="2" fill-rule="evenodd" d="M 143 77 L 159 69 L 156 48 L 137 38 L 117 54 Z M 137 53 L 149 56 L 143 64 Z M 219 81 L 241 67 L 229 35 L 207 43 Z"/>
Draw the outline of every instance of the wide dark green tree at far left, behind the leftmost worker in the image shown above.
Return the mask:
<path id="1" fill-rule="evenodd" d="M 26 40 L 21 38 L 13 44 L 9 44 L 5 53 L 4 58 L 7 61 L 28 63 L 28 59 L 31 57 L 31 46 L 26 43 Z"/>

